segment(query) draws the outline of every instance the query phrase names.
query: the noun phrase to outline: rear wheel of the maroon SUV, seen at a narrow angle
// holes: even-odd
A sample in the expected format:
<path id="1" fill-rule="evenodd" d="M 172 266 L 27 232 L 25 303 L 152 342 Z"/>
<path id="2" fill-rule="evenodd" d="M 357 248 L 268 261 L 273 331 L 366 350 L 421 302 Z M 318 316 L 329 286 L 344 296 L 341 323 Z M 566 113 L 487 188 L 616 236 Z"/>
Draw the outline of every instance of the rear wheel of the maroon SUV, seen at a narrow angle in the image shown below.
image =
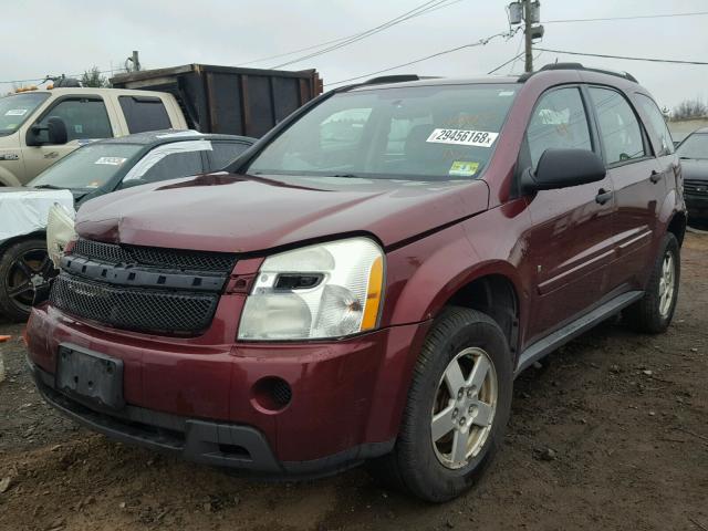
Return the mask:
<path id="1" fill-rule="evenodd" d="M 670 301 L 667 303 L 662 293 L 664 285 L 667 284 L 665 268 L 668 257 L 673 263 L 673 282 L 669 288 Z M 646 285 L 644 296 L 624 311 L 625 321 L 632 329 L 648 334 L 659 334 L 666 331 L 671 323 L 678 301 L 680 270 L 680 248 L 676 237 L 669 232 L 659 246 L 659 252 L 654 261 L 652 277 Z"/>

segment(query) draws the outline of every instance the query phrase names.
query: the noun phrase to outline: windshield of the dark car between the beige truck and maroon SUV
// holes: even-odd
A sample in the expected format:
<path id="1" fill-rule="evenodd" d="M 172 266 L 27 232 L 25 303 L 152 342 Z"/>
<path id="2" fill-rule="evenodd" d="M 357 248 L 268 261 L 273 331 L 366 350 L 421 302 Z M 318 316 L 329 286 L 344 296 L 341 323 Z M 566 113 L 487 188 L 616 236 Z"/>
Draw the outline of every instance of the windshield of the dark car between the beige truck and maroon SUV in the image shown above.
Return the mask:
<path id="1" fill-rule="evenodd" d="M 87 144 L 50 166 L 28 186 L 98 188 L 132 160 L 145 146 L 137 144 Z"/>

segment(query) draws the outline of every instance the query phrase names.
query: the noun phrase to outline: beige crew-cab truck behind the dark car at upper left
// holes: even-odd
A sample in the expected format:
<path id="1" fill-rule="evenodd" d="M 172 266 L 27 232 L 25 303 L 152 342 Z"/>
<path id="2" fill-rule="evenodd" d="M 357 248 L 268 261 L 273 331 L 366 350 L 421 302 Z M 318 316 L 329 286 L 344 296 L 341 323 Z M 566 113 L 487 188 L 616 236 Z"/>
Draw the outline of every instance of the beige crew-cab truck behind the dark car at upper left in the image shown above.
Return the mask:
<path id="1" fill-rule="evenodd" d="M 0 97 L 0 187 L 21 186 L 83 144 L 186 129 L 171 94 L 122 88 L 41 88 Z"/>

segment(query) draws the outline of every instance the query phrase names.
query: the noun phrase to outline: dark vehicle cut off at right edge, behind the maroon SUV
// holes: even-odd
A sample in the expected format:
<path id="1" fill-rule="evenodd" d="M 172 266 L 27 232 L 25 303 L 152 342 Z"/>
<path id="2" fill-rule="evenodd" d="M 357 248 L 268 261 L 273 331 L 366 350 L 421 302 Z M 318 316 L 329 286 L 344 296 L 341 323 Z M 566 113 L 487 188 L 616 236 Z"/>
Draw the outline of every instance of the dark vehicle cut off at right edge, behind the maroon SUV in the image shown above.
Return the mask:
<path id="1" fill-rule="evenodd" d="M 708 127 L 695 131 L 676 148 L 684 170 L 684 197 L 691 220 L 708 221 Z"/>

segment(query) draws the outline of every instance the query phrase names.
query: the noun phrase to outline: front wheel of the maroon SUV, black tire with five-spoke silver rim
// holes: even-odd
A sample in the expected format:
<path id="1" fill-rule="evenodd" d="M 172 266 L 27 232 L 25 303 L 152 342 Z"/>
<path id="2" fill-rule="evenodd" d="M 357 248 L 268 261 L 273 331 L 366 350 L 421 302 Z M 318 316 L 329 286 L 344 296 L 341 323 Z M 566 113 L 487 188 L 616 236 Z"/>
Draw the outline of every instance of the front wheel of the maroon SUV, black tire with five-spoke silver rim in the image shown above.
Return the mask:
<path id="1" fill-rule="evenodd" d="M 448 376 L 455 375 L 455 366 L 464 379 Z M 487 376 L 483 381 L 477 378 L 482 385 L 475 386 L 476 379 L 466 369 L 481 368 L 482 374 L 483 367 L 489 367 Z M 467 392 L 461 399 L 459 392 L 456 396 L 450 393 L 456 385 L 449 385 L 449 379 L 464 384 L 461 388 Z M 429 502 L 458 497 L 472 487 L 503 438 L 512 387 L 511 354 L 499 325 L 476 310 L 446 309 L 434 323 L 418 357 L 394 450 L 371 461 L 369 471 L 388 486 Z M 483 427 L 485 418 L 491 419 L 488 427 Z M 436 419 L 439 424 L 434 423 Z M 450 429 L 448 423 L 467 424 L 465 428 Z M 438 426 L 435 430 L 434 425 Z M 445 435 L 434 441 L 440 433 Z M 464 454 L 457 454 L 464 455 L 461 460 L 454 458 L 456 437 L 465 442 L 457 444 L 462 448 Z"/>

